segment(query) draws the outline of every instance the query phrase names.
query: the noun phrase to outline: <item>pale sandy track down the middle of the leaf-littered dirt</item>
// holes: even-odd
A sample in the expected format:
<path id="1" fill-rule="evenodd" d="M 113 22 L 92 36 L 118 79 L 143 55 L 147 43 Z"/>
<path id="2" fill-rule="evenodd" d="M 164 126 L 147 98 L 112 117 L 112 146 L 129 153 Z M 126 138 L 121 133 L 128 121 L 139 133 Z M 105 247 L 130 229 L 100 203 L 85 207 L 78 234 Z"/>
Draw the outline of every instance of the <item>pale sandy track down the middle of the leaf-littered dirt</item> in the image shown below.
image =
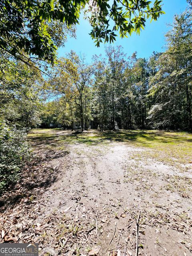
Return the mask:
<path id="1" fill-rule="evenodd" d="M 158 176 L 152 176 L 151 173 L 148 173 L 148 165 L 146 163 L 132 160 L 132 156 L 137 151 L 142 152 L 142 149 L 128 147 L 120 143 L 111 143 L 110 146 L 103 148 L 102 152 L 100 152 L 98 146 L 72 145 L 70 146 L 70 154 L 66 156 L 66 163 L 62 167 L 62 177 L 54 184 L 57 188 L 57 194 L 64 196 L 65 204 L 60 207 L 60 202 L 56 202 L 56 199 L 51 199 L 53 211 L 60 209 L 59 213 L 62 213 L 62 211 L 71 207 L 66 215 L 71 216 L 75 212 L 75 216 L 78 218 L 81 215 L 86 216 L 83 217 L 85 220 L 82 220 L 86 230 L 89 230 L 90 224 L 95 225 L 95 218 L 98 218 L 98 223 L 104 223 L 102 232 L 97 230 L 97 235 L 95 236 L 95 231 L 93 231 L 91 236 L 94 238 L 88 239 L 90 248 L 94 244 L 100 245 L 100 255 L 106 255 L 108 252 L 115 250 L 120 230 L 123 230 L 123 236 L 120 237 L 119 250 L 123 253 L 124 244 L 126 243 L 129 254 L 133 255 L 135 248 L 135 218 L 138 211 L 142 210 L 143 214 L 150 213 L 152 214 L 150 218 L 155 218 L 157 212 L 153 202 L 156 200 L 155 203 L 156 205 L 159 204 L 158 207 L 160 209 L 158 212 L 160 217 L 158 218 L 168 218 L 168 215 L 165 214 L 167 209 L 164 210 L 160 204 L 162 202 L 169 203 L 170 201 L 171 204 L 174 204 L 174 199 L 178 199 L 176 195 L 171 194 L 172 200 L 169 199 L 167 201 L 165 200 L 166 195 L 164 195 L 167 192 L 156 191 L 159 188 L 159 183 L 163 184 L 161 177 L 159 174 Z M 133 177 L 129 177 L 131 181 L 124 182 L 127 167 L 130 167 L 130 165 L 132 165 L 133 170 L 134 168 L 136 170 L 141 168 L 144 177 L 138 180 L 139 174 L 137 177 L 134 173 Z M 159 165 L 161 166 L 162 164 L 159 163 Z M 152 172 L 155 172 L 154 168 Z M 167 166 L 166 172 L 168 172 Z M 132 173 L 129 175 L 132 176 Z M 150 188 L 146 188 L 143 184 L 146 184 L 146 186 L 149 184 Z M 138 186 L 140 186 L 139 189 Z M 155 192 L 158 192 L 157 198 L 154 198 Z M 160 194 L 162 194 L 164 200 L 162 200 Z M 126 218 L 121 217 L 123 214 Z M 163 217 L 164 214 L 167 217 Z M 118 223 L 118 234 L 114 235 L 113 241 L 109 245 L 116 222 Z M 144 246 L 144 249 L 140 250 L 141 255 L 156 256 L 160 254 L 168 255 L 169 253 L 172 256 L 180 256 L 185 255 L 184 252 L 189 253 L 182 243 L 178 242 L 184 240 L 182 233 L 169 229 L 168 235 L 166 229 L 163 226 L 161 227 L 160 223 L 151 225 L 145 222 L 146 220 L 141 223 L 141 231 L 143 230 L 143 233 L 140 234 L 140 243 Z M 166 225 L 166 222 L 164 225 Z M 86 248 L 83 242 L 81 240 L 78 242 L 82 251 L 85 252 Z M 178 244 L 178 252 L 170 244 L 174 244 L 174 246 Z"/>

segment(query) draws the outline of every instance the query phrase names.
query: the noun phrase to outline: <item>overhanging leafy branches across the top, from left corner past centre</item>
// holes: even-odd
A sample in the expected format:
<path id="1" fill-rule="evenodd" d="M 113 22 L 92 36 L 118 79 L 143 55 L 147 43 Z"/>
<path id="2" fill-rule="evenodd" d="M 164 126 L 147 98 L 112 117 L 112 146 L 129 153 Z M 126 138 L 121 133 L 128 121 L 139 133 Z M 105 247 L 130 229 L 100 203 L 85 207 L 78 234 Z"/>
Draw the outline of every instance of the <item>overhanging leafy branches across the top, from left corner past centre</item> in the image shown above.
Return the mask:
<path id="1" fill-rule="evenodd" d="M 56 46 L 62 44 L 66 30 L 78 24 L 82 9 L 88 6 L 90 35 L 99 46 L 103 40 L 113 42 L 116 31 L 121 37 L 139 34 L 147 18 L 157 20 L 164 13 L 162 1 L 150 4 L 148 0 L 114 0 L 113 4 L 108 0 L 0 0 L 0 48 L 26 63 L 24 56 L 53 63 Z"/>

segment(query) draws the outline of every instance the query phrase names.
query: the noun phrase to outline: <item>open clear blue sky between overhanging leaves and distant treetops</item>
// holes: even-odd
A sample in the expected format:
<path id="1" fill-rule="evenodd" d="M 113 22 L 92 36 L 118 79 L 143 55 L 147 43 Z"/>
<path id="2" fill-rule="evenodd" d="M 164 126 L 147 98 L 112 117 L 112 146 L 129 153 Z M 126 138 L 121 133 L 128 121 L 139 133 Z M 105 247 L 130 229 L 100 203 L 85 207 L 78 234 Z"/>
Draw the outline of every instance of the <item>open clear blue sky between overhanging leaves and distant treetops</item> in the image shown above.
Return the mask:
<path id="1" fill-rule="evenodd" d="M 138 52 L 138 57 L 149 57 L 153 51 L 162 51 L 165 41 L 164 34 L 169 30 L 167 24 L 172 23 L 175 14 L 179 14 L 186 9 L 186 0 L 163 0 L 163 10 L 166 14 L 161 15 L 155 22 L 147 22 L 145 30 L 140 36 L 132 34 L 128 38 L 117 38 L 114 45 L 122 45 L 127 55 Z M 85 54 L 88 63 L 91 63 L 94 54 L 104 54 L 106 44 L 101 44 L 99 48 L 94 45 L 90 38 L 90 24 L 81 16 L 80 24 L 77 25 L 76 39 L 68 38 L 65 47 L 58 49 L 58 56 L 65 56 L 66 52 L 74 50 L 77 54 Z"/>

